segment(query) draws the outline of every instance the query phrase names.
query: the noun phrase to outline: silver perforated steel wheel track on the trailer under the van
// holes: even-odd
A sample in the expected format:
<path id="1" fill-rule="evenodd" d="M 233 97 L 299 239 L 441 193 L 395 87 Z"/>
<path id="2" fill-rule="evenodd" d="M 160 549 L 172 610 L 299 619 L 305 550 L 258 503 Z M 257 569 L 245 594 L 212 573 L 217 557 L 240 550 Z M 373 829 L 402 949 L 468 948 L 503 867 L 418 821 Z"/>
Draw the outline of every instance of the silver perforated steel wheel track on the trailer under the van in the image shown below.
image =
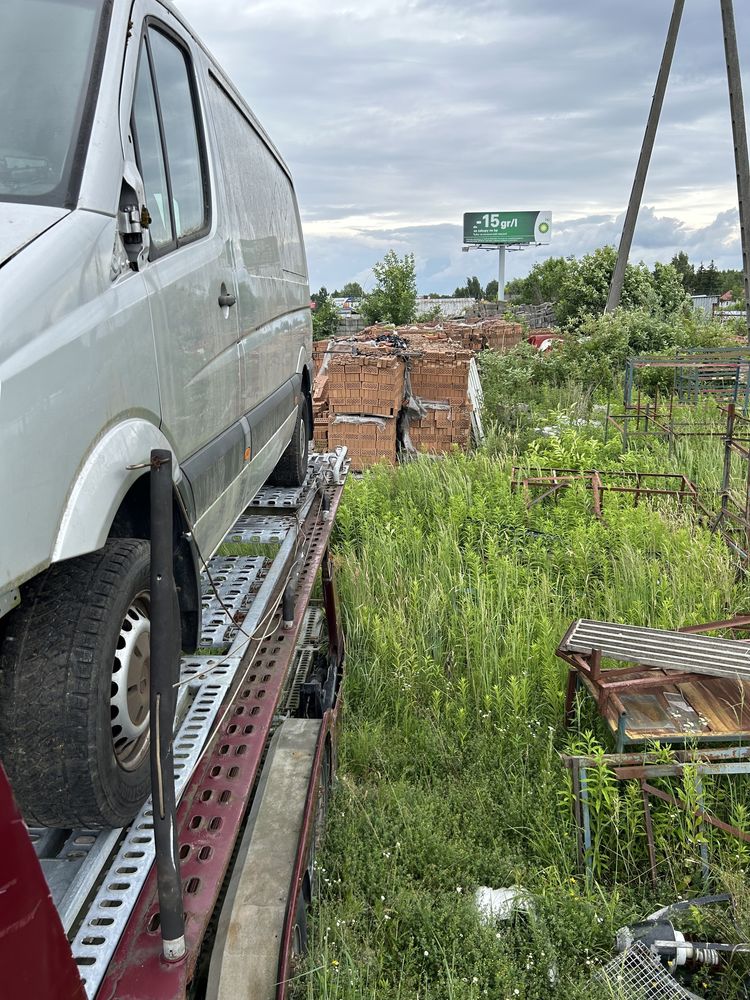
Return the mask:
<path id="1" fill-rule="evenodd" d="M 313 510 L 313 501 L 321 489 L 343 479 L 344 458 L 345 453 L 315 456 L 300 489 L 263 490 L 227 535 L 227 541 L 278 545 L 274 558 L 217 556 L 209 563 L 215 590 L 204 574 L 201 645 L 210 648 L 211 655 L 185 657 L 181 664 L 174 744 L 178 801 L 222 718 L 222 706 L 250 637 L 265 627 L 266 605 L 273 600 L 283 583 L 285 567 L 296 555 L 300 523 L 311 511 L 319 520 L 320 510 Z M 269 514 L 264 509 L 267 507 L 280 508 L 283 514 Z M 319 611 L 304 611 L 289 671 L 285 712 L 311 662 L 322 621 Z M 245 726 L 245 731 L 248 728 L 252 726 Z M 96 995 L 103 981 L 152 868 L 151 816 L 149 801 L 126 830 L 29 831 L 63 926 L 66 932 L 75 932 L 71 947 L 88 997 Z M 197 884 L 197 880 L 188 880 L 188 892 L 192 883 Z"/>

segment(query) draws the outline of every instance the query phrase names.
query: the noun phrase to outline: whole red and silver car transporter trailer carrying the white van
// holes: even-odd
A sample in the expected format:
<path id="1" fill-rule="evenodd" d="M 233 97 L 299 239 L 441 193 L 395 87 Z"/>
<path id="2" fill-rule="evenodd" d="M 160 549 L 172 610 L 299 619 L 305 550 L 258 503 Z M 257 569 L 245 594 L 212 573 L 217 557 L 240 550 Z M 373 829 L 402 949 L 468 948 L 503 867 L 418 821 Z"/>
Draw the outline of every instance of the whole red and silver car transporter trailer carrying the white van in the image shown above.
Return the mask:
<path id="1" fill-rule="evenodd" d="M 262 554 L 210 561 L 210 655 L 175 684 L 171 455 L 152 453 L 152 795 L 122 830 L 30 830 L 0 767 L 0 997 L 287 996 L 336 757 L 347 470 L 345 449 L 313 456 L 302 487 L 253 500 L 227 542 Z"/>

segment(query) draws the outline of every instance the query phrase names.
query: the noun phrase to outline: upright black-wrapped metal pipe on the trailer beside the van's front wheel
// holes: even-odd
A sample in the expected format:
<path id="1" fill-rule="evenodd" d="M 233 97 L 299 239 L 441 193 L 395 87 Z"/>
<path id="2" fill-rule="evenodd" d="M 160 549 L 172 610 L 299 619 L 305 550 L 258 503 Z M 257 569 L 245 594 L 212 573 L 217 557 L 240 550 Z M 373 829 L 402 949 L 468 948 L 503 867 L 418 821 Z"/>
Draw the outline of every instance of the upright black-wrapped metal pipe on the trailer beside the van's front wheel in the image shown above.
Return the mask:
<path id="1" fill-rule="evenodd" d="M 180 649 L 173 568 L 172 453 L 151 452 L 151 807 L 162 952 L 185 954 L 185 918 L 177 845 L 174 789 L 174 679 Z"/>

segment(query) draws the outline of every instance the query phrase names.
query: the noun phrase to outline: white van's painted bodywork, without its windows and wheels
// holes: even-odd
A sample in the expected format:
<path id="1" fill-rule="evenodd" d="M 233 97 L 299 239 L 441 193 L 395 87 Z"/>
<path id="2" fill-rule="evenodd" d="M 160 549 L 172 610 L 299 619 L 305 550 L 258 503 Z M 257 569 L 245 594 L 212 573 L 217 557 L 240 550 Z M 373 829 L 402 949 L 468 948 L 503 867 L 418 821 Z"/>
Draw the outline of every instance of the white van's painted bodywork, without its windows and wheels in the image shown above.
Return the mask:
<path id="1" fill-rule="evenodd" d="M 162 254 L 147 229 L 131 270 L 117 213 L 123 190 L 145 203 L 130 126 L 154 18 L 192 60 L 210 225 Z M 153 447 L 174 453 L 208 558 L 289 444 L 309 376 L 294 189 L 241 96 L 161 0 L 114 0 L 96 77 L 77 206 L 0 201 L 0 616 L 3 593 L 104 543 Z"/>

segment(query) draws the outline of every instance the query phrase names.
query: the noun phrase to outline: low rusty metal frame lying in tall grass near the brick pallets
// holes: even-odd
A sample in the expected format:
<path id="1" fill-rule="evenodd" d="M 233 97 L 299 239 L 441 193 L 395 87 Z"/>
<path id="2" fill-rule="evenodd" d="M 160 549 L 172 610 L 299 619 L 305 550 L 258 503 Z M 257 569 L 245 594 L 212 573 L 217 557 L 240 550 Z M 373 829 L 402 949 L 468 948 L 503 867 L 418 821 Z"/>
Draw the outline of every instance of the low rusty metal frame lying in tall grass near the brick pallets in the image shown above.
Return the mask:
<path id="1" fill-rule="evenodd" d="M 539 468 L 531 474 L 520 466 L 514 466 L 511 490 L 522 490 L 526 507 L 530 509 L 548 497 L 557 497 L 561 490 L 576 483 L 581 483 L 591 491 L 594 514 L 600 519 L 603 516 L 605 492 L 628 494 L 634 498 L 636 507 L 642 497 L 668 497 L 677 500 L 680 506 L 685 501 L 696 508 L 700 506 L 695 483 L 687 476 L 672 472 Z"/>

